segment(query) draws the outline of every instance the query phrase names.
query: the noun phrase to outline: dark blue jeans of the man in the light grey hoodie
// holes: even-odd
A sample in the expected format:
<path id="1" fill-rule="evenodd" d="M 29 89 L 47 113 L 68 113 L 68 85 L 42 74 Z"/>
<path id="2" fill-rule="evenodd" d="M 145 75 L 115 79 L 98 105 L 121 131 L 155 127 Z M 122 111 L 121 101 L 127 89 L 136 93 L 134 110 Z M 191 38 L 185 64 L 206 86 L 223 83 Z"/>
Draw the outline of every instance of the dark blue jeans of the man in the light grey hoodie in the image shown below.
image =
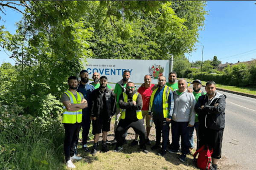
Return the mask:
<path id="1" fill-rule="evenodd" d="M 181 138 L 181 153 L 189 153 L 189 122 L 175 122 L 172 120 L 172 149 L 180 148 L 179 140 Z"/>

